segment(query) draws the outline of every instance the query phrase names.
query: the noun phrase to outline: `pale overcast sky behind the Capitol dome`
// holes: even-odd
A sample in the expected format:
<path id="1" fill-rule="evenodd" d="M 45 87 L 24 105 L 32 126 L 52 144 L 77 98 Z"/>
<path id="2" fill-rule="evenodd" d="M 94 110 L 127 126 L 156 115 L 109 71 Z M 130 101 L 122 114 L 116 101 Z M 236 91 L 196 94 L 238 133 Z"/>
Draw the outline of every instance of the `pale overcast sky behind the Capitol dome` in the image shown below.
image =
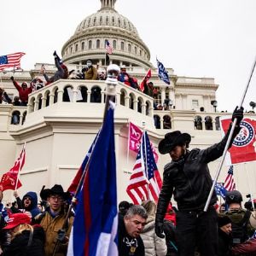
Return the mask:
<path id="1" fill-rule="evenodd" d="M 1 1 L 0 55 L 26 53 L 21 67 L 53 63 L 80 21 L 100 0 Z M 137 27 L 144 43 L 178 76 L 209 77 L 219 84 L 218 110 L 241 102 L 256 56 L 255 0 L 117 0 L 115 9 Z M 255 70 L 256 73 L 256 70 Z M 256 74 L 244 107 L 256 102 Z"/>

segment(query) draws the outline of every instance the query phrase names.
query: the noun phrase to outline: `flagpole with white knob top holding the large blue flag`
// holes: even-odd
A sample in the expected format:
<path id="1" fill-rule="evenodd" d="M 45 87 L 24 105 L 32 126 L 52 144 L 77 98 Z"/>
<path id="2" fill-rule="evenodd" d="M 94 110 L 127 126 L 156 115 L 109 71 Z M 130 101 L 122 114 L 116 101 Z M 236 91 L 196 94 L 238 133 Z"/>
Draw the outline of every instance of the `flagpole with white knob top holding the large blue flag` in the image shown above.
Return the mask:
<path id="1" fill-rule="evenodd" d="M 119 72 L 120 72 L 120 68 L 115 65 L 115 64 L 112 64 L 112 65 L 109 65 L 108 68 L 107 68 L 107 72 L 108 72 L 108 78 L 106 80 L 106 103 L 105 103 L 105 109 L 104 109 L 104 115 L 103 115 L 103 121 L 102 121 L 102 124 L 104 124 L 105 120 L 106 120 L 106 116 L 107 116 L 107 112 L 108 112 L 108 108 L 110 107 L 110 105 L 113 105 L 113 102 L 114 102 L 114 99 L 115 99 L 115 87 L 116 85 L 118 84 L 118 75 L 119 75 Z M 100 133 L 98 134 L 98 137 L 99 137 Z M 97 142 L 97 139 L 98 137 L 96 137 L 96 142 Z M 95 145 L 96 145 L 96 142 L 95 142 Z M 61 232 L 62 234 L 66 233 L 66 225 L 67 225 L 67 222 L 68 222 L 68 218 L 69 218 L 69 215 L 71 213 L 71 210 L 72 208 L 74 207 L 76 201 L 77 201 L 77 196 L 79 195 L 79 191 L 82 187 L 82 184 L 84 183 L 84 178 L 86 177 L 87 175 L 87 168 L 88 166 L 90 165 L 90 160 L 91 160 L 91 156 L 93 154 L 93 151 L 94 151 L 94 147 L 91 149 L 91 153 L 90 153 L 90 156 L 88 158 L 88 161 L 86 163 L 86 165 L 84 166 L 84 172 L 82 173 L 82 176 L 79 180 L 79 185 L 75 191 L 75 194 L 73 195 L 73 199 L 71 201 L 71 204 L 69 205 L 68 209 L 67 209 L 67 213 L 66 213 L 66 218 L 64 220 L 64 223 L 61 227 Z M 56 253 L 56 250 L 57 250 L 57 247 L 59 246 L 60 244 L 60 239 L 57 239 L 56 243 L 55 243 L 55 248 L 54 248 L 54 251 L 52 253 L 52 256 L 55 256 L 55 253 Z"/>

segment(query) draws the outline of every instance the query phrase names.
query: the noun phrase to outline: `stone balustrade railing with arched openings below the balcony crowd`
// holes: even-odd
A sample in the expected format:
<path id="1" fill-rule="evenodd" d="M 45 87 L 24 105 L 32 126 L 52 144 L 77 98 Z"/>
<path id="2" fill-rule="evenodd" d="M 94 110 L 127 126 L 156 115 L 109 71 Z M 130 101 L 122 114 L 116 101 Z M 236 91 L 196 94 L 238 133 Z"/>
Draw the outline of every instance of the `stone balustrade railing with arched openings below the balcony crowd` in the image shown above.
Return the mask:
<path id="1" fill-rule="evenodd" d="M 58 80 L 29 95 L 27 113 L 48 108 L 58 102 L 102 103 L 105 101 L 105 81 Z M 153 98 L 130 86 L 119 83 L 116 88 L 116 103 L 153 117 Z"/>

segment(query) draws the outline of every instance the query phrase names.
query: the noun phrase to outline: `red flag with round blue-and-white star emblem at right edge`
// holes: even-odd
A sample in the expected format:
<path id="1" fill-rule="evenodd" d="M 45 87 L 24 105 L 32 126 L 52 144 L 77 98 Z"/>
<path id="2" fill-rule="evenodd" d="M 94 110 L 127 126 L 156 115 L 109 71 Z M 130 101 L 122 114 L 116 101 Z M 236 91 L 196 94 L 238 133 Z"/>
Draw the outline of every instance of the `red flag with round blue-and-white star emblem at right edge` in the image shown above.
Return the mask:
<path id="1" fill-rule="evenodd" d="M 226 133 L 230 126 L 230 119 L 220 119 L 221 129 Z M 256 120 L 242 119 L 241 131 L 236 136 L 232 147 L 227 153 L 229 164 L 245 163 L 256 160 Z"/>

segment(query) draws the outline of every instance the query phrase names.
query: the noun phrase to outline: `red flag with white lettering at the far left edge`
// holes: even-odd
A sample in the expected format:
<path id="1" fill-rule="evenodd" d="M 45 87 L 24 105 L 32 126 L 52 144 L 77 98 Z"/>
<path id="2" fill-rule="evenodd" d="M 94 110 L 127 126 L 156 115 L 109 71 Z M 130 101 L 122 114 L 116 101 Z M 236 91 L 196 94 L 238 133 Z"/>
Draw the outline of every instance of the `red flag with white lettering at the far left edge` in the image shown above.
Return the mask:
<path id="1" fill-rule="evenodd" d="M 25 145 L 23 146 L 20 156 L 17 160 L 15 160 L 15 165 L 9 170 L 9 172 L 6 172 L 3 174 L 3 177 L 1 178 L 0 182 L 0 190 L 4 191 L 7 189 L 19 189 L 21 187 L 20 180 L 17 181 L 18 174 L 22 167 L 25 164 L 25 157 L 26 157 L 26 151 L 25 151 Z M 17 183 L 17 185 L 16 185 Z"/>

